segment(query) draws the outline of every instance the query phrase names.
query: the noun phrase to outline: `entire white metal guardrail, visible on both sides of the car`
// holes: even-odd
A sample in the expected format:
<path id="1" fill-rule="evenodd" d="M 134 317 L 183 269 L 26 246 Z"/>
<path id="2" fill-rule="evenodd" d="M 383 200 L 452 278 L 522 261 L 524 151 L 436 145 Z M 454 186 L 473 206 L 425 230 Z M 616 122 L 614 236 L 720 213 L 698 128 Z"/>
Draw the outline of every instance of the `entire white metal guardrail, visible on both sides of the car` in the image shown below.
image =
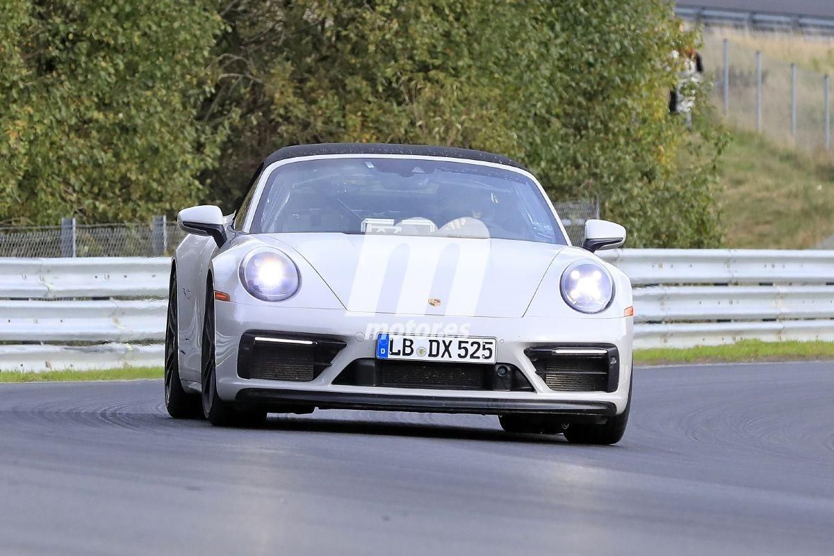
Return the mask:
<path id="1" fill-rule="evenodd" d="M 638 348 L 834 341 L 834 251 L 622 249 Z M 159 366 L 168 258 L 0 258 L 0 369 Z"/>

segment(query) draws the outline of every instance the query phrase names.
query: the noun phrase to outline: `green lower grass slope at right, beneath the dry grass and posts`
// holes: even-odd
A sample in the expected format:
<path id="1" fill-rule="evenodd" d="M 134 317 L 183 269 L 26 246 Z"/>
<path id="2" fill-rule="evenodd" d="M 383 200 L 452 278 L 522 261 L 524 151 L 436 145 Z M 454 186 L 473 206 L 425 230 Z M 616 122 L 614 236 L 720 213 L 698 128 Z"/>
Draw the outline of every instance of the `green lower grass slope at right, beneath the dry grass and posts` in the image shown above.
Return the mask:
<path id="1" fill-rule="evenodd" d="M 834 159 L 736 131 L 721 157 L 728 248 L 812 248 L 834 234 Z"/>

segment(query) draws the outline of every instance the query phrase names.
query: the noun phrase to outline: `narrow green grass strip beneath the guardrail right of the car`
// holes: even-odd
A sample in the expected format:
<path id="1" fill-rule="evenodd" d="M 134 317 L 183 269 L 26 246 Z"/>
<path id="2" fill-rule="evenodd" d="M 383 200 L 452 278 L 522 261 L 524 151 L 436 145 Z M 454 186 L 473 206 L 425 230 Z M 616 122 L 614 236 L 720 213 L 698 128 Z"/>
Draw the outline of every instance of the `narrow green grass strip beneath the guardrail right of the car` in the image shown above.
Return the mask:
<path id="1" fill-rule="evenodd" d="M 753 363 L 834 359 L 834 342 L 761 342 L 742 340 L 721 346 L 638 349 L 636 365 L 666 363 Z"/>

